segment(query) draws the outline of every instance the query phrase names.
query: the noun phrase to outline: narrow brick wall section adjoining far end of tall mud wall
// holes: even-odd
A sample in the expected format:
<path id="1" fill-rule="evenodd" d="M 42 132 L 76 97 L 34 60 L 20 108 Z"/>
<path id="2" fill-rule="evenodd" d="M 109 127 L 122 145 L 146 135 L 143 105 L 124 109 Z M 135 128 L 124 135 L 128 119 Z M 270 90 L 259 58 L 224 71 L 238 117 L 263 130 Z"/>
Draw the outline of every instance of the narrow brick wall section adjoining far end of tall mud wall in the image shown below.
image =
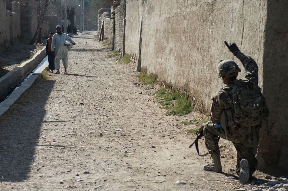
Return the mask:
<path id="1" fill-rule="evenodd" d="M 120 5 L 115 8 L 115 50 L 120 55 L 125 54 L 125 23 L 126 23 L 126 0 L 121 0 Z"/>

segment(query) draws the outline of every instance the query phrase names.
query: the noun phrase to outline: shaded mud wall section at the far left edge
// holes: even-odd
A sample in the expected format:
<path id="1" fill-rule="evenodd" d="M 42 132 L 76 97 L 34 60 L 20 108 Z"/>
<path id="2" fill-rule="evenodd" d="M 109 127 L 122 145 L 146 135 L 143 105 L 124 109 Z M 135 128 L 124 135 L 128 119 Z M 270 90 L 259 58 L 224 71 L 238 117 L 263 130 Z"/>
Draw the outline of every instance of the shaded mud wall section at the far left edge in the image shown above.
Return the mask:
<path id="1" fill-rule="evenodd" d="M 0 0 L 0 52 L 10 46 L 9 17 L 5 1 Z"/>

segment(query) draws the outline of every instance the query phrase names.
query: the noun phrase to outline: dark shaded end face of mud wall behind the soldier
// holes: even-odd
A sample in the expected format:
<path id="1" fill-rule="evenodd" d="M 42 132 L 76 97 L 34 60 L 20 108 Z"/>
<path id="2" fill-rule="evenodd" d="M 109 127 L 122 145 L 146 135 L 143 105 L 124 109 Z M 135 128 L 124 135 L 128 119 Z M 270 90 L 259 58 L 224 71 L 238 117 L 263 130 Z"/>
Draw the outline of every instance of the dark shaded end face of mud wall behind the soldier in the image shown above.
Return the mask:
<path id="1" fill-rule="evenodd" d="M 263 93 L 270 109 L 269 135 L 262 128 L 258 168 L 288 169 L 288 1 L 267 1 L 267 21 L 263 55 Z M 284 172 L 283 172 L 284 173 Z"/>

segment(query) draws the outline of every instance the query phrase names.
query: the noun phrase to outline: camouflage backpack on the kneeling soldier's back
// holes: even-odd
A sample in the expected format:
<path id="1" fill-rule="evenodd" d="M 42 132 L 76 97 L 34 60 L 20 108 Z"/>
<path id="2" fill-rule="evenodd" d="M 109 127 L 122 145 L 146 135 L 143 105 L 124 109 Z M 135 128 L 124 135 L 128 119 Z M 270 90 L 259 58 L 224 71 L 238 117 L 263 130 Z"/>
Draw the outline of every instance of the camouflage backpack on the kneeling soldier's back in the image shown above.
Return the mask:
<path id="1" fill-rule="evenodd" d="M 266 126 L 267 134 L 268 134 L 268 116 L 269 109 L 266 105 L 265 98 L 261 92 L 261 88 L 252 83 L 248 79 L 239 79 L 235 80 L 234 83 L 229 83 L 224 86 L 222 89 L 230 90 L 232 93 L 232 100 L 230 101 L 230 105 L 232 106 L 232 112 L 230 115 L 227 112 L 222 112 L 222 114 L 226 115 L 226 119 L 229 124 L 232 126 L 236 126 L 236 124 L 240 124 L 242 127 L 247 127 L 248 132 L 253 133 L 253 153 L 257 153 L 257 137 L 255 133 L 255 126 L 262 124 L 262 126 Z M 227 92 L 225 92 L 227 94 Z M 227 96 L 229 99 L 229 96 Z M 223 117 L 224 118 L 224 117 Z M 224 127 L 221 125 L 226 133 L 226 122 L 223 121 Z"/>

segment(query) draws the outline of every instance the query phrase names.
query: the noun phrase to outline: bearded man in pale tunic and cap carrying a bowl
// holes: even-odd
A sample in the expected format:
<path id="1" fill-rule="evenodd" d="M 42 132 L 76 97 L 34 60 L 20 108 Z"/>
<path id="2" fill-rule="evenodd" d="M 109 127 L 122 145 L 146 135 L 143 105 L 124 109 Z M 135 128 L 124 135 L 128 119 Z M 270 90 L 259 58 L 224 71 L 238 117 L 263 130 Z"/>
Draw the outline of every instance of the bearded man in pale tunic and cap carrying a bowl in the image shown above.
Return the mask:
<path id="1" fill-rule="evenodd" d="M 52 54 L 55 54 L 55 69 L 57 69 L 56 74 L 60 74 L 60 60 L 62 59 L 63 66 L 64 66 L 64 74 L 67 73 L 68 67 L 68 48 L 64 45 L 66 41 L 73 43 L 75 42 L 65 33 L 61 32 L 60 25 L 56 26 L 57 33 L 53 35 L 52 44 L 51 44 L 51 51 Z"/>

